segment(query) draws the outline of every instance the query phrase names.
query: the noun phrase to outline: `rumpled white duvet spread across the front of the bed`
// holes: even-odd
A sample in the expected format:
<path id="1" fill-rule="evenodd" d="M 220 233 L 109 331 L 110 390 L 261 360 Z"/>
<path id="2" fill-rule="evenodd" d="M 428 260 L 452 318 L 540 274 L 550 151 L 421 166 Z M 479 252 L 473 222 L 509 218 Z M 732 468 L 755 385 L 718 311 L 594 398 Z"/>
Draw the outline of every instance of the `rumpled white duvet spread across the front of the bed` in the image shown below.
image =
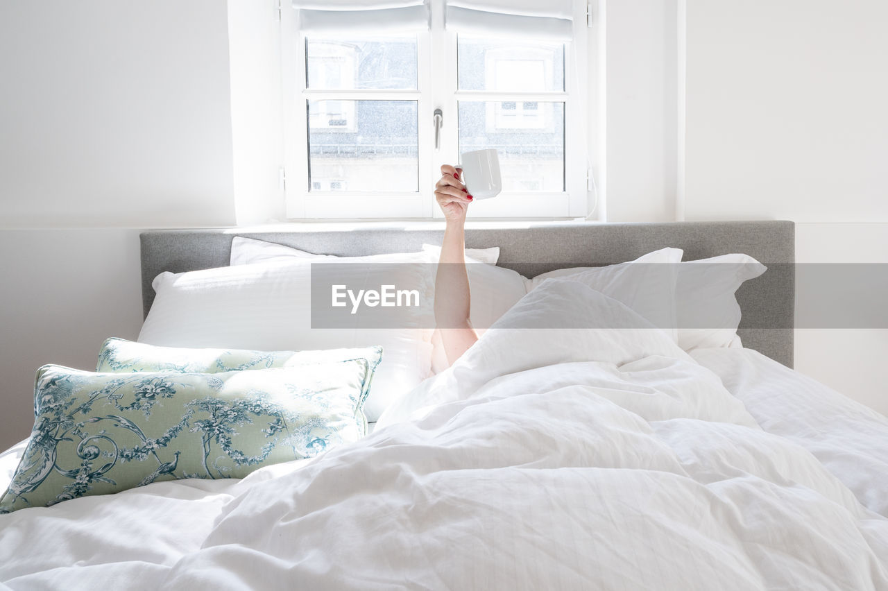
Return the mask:
<path id="1" fill-rule="evenodd" d="M 576 310 L 638 329 L 574 329 Z M 723 377 L 746 371 L 708 361 Z M 550 280 L 354 445 L 241 481 L 158 483 L 0 516 L 0 580 L 888 588 L 888 518 L 877 512 L 884 464 L 869 462 L 869 477 L 854 479 L 858 458 L 822 449 L 842 437 L 814 445 L 786 418 L 782 432 L 763 429 L 764 390 L 741 382 L 756 401 L 751 414 L 716 373 L 622 304 Z M 888 439 L 879 420 L 860 418 L 867 427 L 855 445 Z M 0 461 L 7 467 L 14 453 Z"/>

